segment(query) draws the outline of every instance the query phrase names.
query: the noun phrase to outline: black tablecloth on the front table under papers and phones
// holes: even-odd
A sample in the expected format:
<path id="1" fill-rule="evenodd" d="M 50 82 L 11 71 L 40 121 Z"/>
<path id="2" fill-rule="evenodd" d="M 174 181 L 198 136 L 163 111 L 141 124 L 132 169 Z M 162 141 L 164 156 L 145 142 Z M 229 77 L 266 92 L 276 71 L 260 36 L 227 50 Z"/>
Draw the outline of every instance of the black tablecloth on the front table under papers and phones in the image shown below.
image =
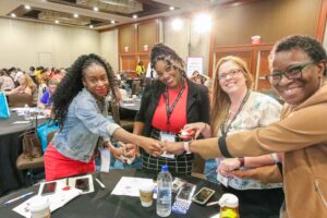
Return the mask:
<path id="1" fill-rule="evenodd" d="M 70 217 L 70 218 L 101 218 L 101 217 L 111 217 L 111 218 L 123 218 L 123 217 L 158 217 L 156 214 L 156 202 L 153 206 L 145 208 L 141 206 L 138 197 L 131 196 L 118 196 L 110 195 L 113 187 L 121 179 L 121 177 L 137 177 L 137 178 L 150 178 L 155 179 L 155 175 L 146 174 L 143 171 L 129 169 L 129 170 L 111 170 L 109 173 L 95 173 L 94 178 L 97 177 L 106 185 L 106 189 L 102 190 L 97 182 L 94 181 L 95 192 L 86 195 L 81 195 L 70 203 L 68 203 L 62 208 L 53 211 L 51 218 L 56 217 Z M 216 191 L 215 195 L 210 198 L 209 202 L 218 201 L 222 195 L 222 189 L 215 183 L 208 182 L 206 180 L 201 180 L 194 177 L 184 178 L 189 182 L 196 184 L 196 191 L 203 186 L 210 187 Z M 20 205 L 26 199 L 20 199 L 9 206 L 4 206 L 3 203 L 12 199 L 16 196 L 22 195 L 34 191 L 36 194 L 38 191 L 38 185 L 29 189 L 21 190 L 16 193 L 12 193 L 8 196 L 0 198 L 0 217 L 11 217 L 20 218 L 21 216 L 12 210 L 15 206 Z M 33 195 L 32 195 L 33 196 Z M 32 197 L 31 196 L 31 197 Z M 174 199 L 173 199 L 174 201 Z M 240 205 L 240 211 L 242 218 L 265 218 L 265 216 L 252 216 L 252 211 L 262 209 L 262 205 L 250 205 L 243 203 Z M 169 217 L 187 217 L 187 218 L 207 218 L 219 211 L 219 206 L 201 206 L 195 203 L 192 203 L 190 210 L 186 215 L 177 215 L 171 214 Z M 271 216 L 270 218 L 278 218 L 278 215 Z"/>

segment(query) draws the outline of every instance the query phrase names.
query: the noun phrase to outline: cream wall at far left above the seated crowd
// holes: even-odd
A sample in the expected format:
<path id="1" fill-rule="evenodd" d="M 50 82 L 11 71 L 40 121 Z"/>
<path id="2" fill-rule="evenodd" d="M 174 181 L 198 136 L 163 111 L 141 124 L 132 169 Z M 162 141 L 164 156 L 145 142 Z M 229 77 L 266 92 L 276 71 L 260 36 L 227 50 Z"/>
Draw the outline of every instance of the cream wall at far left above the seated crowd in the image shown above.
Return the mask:
<path id="1" fill-rule="evenodd" d="M 0 19 L 0 68 L 66 68 L 83 53 L 100 53 L 93 29 Z"/>

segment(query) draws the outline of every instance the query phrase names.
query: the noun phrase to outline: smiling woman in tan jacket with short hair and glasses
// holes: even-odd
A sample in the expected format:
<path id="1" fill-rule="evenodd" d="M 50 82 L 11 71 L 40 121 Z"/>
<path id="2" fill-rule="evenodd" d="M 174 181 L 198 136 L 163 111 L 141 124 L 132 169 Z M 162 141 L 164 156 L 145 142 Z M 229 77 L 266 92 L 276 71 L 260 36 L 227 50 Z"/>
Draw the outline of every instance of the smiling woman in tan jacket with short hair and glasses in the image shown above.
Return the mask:
<path id="1" fill-rule="evenodd" d="M 167 144 L 166 150 L 177 154 L 191 150 L 205 158 L 281 152 L 286 194 L 281 217 L 326 217 L 326 59 L 322 44 L 314 38 L 281 39 L 271 50 L 271 74 L 267 76 L 286 101 L 281 121 L 219 138 Z"/>

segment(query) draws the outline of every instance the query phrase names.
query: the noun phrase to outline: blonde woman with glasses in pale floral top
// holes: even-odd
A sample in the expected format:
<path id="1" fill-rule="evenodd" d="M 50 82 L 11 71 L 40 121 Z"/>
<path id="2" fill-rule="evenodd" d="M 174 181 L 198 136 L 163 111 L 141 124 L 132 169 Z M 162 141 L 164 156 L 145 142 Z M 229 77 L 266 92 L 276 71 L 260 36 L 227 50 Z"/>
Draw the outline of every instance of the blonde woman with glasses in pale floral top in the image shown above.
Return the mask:
<path id="1" fill-rule="evenodd" d="M 264 128 L 280 118 L 281 105 L 269 96 L 252 89 L 252 76 L 246 63 L 233 56 L 221 58 L 214 74 L 211 99 L 211 123 L 191 123 L 185 131 L 204 128 L 203 135 L 209 137 L 227 136 L 238 132 Z M 196 129 L 196 128 L 195 128 Z M 239 145 L 241 146 L 241 145 Z M 246 145 L 245 145 L 246 146 Z M 281 183 L 264 183 L 254 179 L 240 179 L 231 172 L 234 170 L 253 169 L 258 166 L 274 165 L 276 154 L 259 157 L 219 158 L 207 160 L 206 177 L 213 182 L 222 184 L 225 192 L 239 196 L 240 205 L 243 201 L 253 204 L 264 204 L 265 210 L 251 211 L 251 215 L 268 217 L 278 215 L 283 201 Z M 218 164 L 218 174 L 216 172 Z M 255 177 L 255 175 L 254 175 Z"/>

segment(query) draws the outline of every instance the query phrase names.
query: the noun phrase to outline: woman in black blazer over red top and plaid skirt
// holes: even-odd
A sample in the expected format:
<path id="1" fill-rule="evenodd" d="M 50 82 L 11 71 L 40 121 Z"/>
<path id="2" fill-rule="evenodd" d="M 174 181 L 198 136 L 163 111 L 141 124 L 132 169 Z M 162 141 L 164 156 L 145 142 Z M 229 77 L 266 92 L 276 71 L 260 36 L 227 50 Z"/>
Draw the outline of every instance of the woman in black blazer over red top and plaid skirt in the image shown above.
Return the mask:
<path id="1" fill-rule="evenodd" d="M 161 141 L 180 141 L 181 129 L 191 122 L 209 122 L 209 100 L 206 87 L 187 80 L 183 60 L 164 44 L 154 46 L 150 53 L 152 68 L 157 78 L 146 86 L 134 133 Z M 141 149 L 142 168 L 157 173 L 168 165 L 173 174 L 191 174 L 192 154 L 161 155 L 153 157 Z"/>

